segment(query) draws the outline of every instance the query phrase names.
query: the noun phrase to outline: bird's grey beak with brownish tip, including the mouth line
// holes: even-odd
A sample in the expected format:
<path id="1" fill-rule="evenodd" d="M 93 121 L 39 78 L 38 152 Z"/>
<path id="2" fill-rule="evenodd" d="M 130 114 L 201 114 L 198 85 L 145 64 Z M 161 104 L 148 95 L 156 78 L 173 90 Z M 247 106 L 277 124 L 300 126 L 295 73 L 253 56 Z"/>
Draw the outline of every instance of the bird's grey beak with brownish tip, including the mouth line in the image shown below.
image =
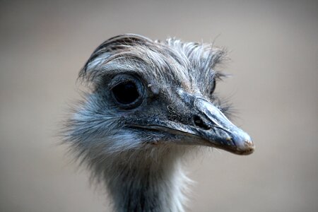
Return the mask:
<path id="1" fill-rule="evenodd" d="M 251 137 L 225 117 L 218 107 L 201 97 L 184 91 L 179 92 L 179 117 L 189 120 L 188 123 L 160 119 L 160 117 L 134 119 L 129 123 L 133 128 L 163 131 L 175 135 L 175 143 L 212 146 L 237 155 L 249 155 L 254 151 Z M 184 108 L 182 108 L 184 107 Z M 184 114 L 184 111 L 188 111 Z"/>

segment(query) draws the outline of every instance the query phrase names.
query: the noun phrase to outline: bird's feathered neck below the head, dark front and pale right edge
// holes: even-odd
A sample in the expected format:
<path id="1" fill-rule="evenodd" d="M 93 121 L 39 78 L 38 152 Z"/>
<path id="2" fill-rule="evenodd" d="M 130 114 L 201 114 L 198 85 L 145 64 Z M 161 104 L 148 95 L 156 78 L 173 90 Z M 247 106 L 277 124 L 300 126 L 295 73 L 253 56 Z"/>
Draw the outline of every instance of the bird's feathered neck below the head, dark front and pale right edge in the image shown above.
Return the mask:
<path id="1" fill-rule="evenodd" d="M 139 155 L 107 172 L 115 211 L 184 211 L 182 190 L 187 177 L 176 156 Z"/>

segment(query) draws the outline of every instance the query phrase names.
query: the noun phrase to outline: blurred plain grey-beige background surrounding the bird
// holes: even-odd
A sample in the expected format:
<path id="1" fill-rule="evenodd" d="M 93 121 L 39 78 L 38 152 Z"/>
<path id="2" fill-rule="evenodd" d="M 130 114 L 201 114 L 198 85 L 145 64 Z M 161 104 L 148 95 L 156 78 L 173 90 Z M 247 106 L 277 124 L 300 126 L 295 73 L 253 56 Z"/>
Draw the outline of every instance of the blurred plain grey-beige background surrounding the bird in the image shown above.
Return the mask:
<path id="1" fill-rule="evenodd" d="M 0 211 L 111 211 L 57 131 L 79 69 L 120 33 L 230 49 L 217 91 L 257 149 L 194 158 L 188 211 L 318 211 L 317 1 L 0 2 Z"/>

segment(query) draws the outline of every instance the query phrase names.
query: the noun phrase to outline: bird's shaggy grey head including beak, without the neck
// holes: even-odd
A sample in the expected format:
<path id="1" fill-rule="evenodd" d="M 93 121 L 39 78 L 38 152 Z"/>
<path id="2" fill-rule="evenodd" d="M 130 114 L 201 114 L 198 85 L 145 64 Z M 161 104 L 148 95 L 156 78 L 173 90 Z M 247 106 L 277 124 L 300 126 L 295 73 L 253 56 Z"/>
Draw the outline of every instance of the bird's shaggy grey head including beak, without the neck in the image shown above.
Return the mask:
<path id="1" fill-rule="evenodd" d="M 252 153 L 249 135 L 216 104 L 213 92 L 221 74 L 214 67 L 223 54 L 173 39 L 107 40 L 81 71 L 93 91 L 73 116 L 71 139 L 100 151 L 199 145 Z"/>

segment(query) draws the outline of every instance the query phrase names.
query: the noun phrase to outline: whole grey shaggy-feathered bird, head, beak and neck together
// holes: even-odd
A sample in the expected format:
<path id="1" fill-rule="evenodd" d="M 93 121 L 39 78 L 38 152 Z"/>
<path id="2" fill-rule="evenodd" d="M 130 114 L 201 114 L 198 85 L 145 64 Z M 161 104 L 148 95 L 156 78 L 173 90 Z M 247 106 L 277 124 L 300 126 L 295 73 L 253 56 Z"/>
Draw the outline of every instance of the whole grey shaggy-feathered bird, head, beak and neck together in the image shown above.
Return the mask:
<path id="1" fill-rule="evenodd" d="M 224 57 L 212 45 L 132 34 L 91 54 L 79 74 L 90 91 L 65 141 L 107 188 L 114 211 L 184 211 L 185 155 L 202 146 L 254 151 L 213 93 Z"/>

